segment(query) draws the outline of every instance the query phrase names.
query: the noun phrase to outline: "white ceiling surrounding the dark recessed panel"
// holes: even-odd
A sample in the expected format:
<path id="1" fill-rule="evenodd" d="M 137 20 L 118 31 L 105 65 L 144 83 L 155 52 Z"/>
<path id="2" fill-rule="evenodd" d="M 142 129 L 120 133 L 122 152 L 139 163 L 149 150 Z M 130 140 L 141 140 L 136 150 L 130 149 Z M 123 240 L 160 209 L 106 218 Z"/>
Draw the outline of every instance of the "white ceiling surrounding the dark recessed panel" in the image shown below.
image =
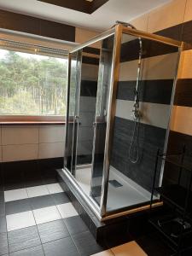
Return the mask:
<path id="1" fill-rule="evenodd" d="M 155 9 L 171 1 L 172 0 L 109 0 L 92 14 L 85 14 L 77 10 L 62 8 L 37 0 L 0 0 L 0 9 L 102 31 L 113 26 L 115 20 L 129 22 L 137 16 L 148 12 L 150 9 Z"/>

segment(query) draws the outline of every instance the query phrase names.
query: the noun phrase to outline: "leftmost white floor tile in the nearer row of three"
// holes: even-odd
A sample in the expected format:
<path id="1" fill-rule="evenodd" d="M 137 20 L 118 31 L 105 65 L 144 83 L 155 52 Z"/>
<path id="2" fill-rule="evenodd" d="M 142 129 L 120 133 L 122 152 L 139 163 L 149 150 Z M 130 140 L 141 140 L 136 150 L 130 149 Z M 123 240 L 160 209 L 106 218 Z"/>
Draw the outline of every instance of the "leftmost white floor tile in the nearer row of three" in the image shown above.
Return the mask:
<path id="1" fill-rule="evenodd" d="M 20 230 L 36 224 L 32 211 L 10 214 L 6 216 L 6 219 L 8 231 Z"/>

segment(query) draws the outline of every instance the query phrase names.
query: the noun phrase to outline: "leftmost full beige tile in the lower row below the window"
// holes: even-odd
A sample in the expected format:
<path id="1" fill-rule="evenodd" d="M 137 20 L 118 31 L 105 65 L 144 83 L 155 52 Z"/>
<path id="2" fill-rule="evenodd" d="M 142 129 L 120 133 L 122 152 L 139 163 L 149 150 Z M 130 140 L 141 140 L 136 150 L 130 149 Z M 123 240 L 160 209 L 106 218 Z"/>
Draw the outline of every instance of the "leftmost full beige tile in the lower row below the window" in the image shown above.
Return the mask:
<path id="1" fill-rule="evenodd" d="M 3 162 L 35 160 L 38 158 L 38 144 L 6 145 L 3 148 Z"/>

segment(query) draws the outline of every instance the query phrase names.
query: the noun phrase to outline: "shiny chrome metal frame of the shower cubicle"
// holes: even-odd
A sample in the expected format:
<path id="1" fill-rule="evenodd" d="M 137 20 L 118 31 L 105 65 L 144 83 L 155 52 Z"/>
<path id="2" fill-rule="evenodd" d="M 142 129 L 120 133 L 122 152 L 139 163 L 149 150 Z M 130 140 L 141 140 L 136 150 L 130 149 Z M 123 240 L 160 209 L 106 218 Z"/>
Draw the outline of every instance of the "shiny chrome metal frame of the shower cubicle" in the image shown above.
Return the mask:
<path id="1" fill-rule="evenodd" d="M 70 86 L 70 75 L 71 75 L 71 55 L 80 50 L 84 47 L 89 46 L 90 44 L 95 44 L 98 41 L 101 41 L 105 38 L 108 38 L 112 35 L 114 35 L 114 43 L 113 43 L 113 61 L 112 61 L 112 72 L 111 72 L 111 78 L 110 78 L 110 90 L 109 90 L 109 103 L 108 103 L 108 117 L 107 117 L 107 129 L 106 129 L 106 141 L 105 141 L 105 151 L 104 151 L 104 163 L 103 163 L 103 172 L 102 172 L 102 194 L 101 194 L 101 203 L 100 207 L 96 204 L 96 202 L 89 197 L 88 195 L 85 195 L 84 191 L 80 188 L 79 184 L 67 170 L 66 167 L 63 168 L 63 173 L 69 183 L 71 183 L 75 189 L 78 190 L 79 195 L 83 197 L 83 199 L 88 203 L 90 209 L 96 214 L 96 217 L 100 220 L 106 220 L 108 218 L 117 218 L 119 216 L 130 214 L 133 212 L 139 212 L 143 210 L 147 210 L 150 207 L 150 202 L 148 202 L 148 205 L 142 206 L 142 207 L 134 207 L 133 209 L 130 209 L 129 207 L 115 210 L 112 212 L 107 212 L 107 199 L 108 199 L 108 177 L 109 177 L 109 167 L 110 167 L 110 155 L 112 150 L 112 142 L 113 142 L 113 123 L 114 123 L 114 116 L 115 116 L 115 108 L 116 108 L 116 94 L 117 94 L 117 87 L 118 87 L 118 81 L 119 81 L 119 59 L 120 59 L 120 49 L 121 49 L 121 39 L 123 33 L 129 34 L 131 36 L 135 36 L 137 38 L 146 38 L 146 39 L 152 39 L 156 42 L 169 44 L 172 46 L 175 46 L 178 48 L 178 64 L 177 68 L 179 66 L 179 59 L 180 54 L 183 51 L 184 43 L 179 42 L 177 40 L 173 40 L 171 38 L 164 38 L 159 35 L 151 34 L 148 32 L 142 32 L 138 31 L 136 29 L 132 29 L 127 26 L 123 26 L 121 24 L 118 24 L 116 26 L 113 26 L 113 28 L 109 29 L 107 32 L 102 32 L 99 36 L 96 36 L 95 38 L 90 39 L 89 41 L 79 44 L 78 46 L 74 47 L 70 52 L 68 56 L 68 76 L 67 76 L 67 106 L 69 104 L 69 86 Z M 177 72 L 176 72 L 177 74 Z M 175 85 L 177 83 L 177 75 L 174 79 L 173 84 L 173 93 L 172 93 L 172 101 L 171 101 L 171 108 L 170 108 L 170 116 L 172 111 L 172 105 L 173 105 L 173 96 L 174 96 L 174 90 Z M 68 108 L 67 108 L 67 122 L 66 122 L 66 144 L 65 148 L 67 148 L 67 126 L 68 126 Z M 170 124 L 168 125 L 168 127 Z M 168 134 L 169 134 L 169 128 L 166 131 L 166 142 L 165 142 L 165 148 L 167 146 L 167 140 L 168 140 Z M 67 161 L 67 156 L 64 157 L 64 163 Z M 66 166 L 66 164 L 65 164 Z M 162 176 L 163 176 L 163 166 L 161 167 L 161 173 L 160 173 L 160 183 L 162 182 Z M 153 207 L 160 206 L 161 202 L 154 202 Z"/>

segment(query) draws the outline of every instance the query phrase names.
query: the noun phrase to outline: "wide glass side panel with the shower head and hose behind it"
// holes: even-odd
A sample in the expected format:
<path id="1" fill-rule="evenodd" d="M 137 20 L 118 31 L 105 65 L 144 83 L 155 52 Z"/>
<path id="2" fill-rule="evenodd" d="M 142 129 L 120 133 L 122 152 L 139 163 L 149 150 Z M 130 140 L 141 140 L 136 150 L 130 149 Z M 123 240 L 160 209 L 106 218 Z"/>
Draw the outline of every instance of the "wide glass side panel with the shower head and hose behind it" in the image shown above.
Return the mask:
<path id="1" fill-rule="evenodd" d="M 150 200 L 157 149 L 166 145 L 177 58 L 177 47 L 123 35 L 107 212 Z M 161 163 L 157 185 L 160 170 Z"/>

